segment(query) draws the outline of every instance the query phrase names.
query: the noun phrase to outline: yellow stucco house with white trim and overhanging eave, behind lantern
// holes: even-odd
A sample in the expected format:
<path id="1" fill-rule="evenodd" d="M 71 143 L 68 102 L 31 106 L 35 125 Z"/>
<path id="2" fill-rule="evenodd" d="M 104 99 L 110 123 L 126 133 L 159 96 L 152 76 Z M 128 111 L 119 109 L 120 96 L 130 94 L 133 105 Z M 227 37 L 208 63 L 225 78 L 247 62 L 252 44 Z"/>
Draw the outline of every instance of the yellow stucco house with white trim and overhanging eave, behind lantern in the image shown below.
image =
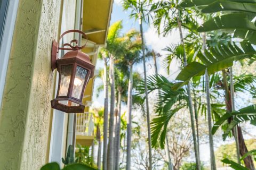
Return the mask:
<path id="1" fill-rule="evenodd" d="M 67 30 L 83 31 L 88 42 L 82 51 L 95 65 L 106 42 L 112 4 L 113 0 L 0 1 L 0 169 L 61 164 L 76 135 L 79 142 L 91 145 L 92 137 L 83 137 L 89 132 L 76 134 L 75 123 L 82 116 L 80 126 L 85 126 L 92 118 L 94 78 L 84 91 L 86 107 L 85 113 L 77 114 L 80 117 L 52 109 L 50 101 L 58 88 L 58 73 L 51 71 L 52 42 Z M 80 44 L 86 41 L 69 33 L 60 44 L 74 38 Z"/>

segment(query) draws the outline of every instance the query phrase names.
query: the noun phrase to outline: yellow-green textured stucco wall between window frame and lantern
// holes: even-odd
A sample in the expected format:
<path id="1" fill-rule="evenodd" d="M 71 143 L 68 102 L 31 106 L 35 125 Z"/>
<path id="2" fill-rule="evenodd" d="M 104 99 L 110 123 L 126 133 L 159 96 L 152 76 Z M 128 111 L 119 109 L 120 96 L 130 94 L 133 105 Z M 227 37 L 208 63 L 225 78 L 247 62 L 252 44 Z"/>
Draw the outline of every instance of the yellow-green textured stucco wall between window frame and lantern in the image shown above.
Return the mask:
<path id="1" fill-rule="evenodd" d="M 60 1 L 20 0 L 0 110 L 0 169 L 39 169 L 47 162 L 53 73 L 51 43 Z"/>

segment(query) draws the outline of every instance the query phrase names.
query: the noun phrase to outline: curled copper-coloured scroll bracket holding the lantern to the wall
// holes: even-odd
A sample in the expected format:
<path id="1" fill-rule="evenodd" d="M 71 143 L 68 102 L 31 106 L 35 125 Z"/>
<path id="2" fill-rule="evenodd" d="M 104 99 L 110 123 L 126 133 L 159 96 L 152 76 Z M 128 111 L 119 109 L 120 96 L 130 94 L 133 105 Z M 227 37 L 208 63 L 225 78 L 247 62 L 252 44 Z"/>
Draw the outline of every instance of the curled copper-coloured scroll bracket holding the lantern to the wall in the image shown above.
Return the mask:
<path id="1" fill-rule="evenodd" d="M 70 32 L 77 32 L 77 33 L 80 33 L 82 34 L 85 39 L 86 39 L 86 42 L 83 46 L 79 47 L 78 46 L 78 40 L 77 39 L 73 39 L 70 41 L 70 43 L 65 43 L 63 44 L 61 47 L 59 47 L 59 42 L 61 40 L 61 38 L 66 35 L 67 33 L 70 33 Z M 58 60 L 58 53 L 59 53 L 59 50 L 80 50 L 80 49 L 83 49 L 86 44 L 87 44 L 87 41 L 88 41 L 88 38 L 86 36 L 86 34 L 83 32 L 83 31 L 80 31 L 80 30 L 68 30 L 68 31 L 65 31 L 62 33 L 62 35 L 60 36 L 58 42 L 53 40 L 52 42 L 52 56 L 51 56 L 51 67 L 52 67 L 52 71 L 54 69 L 57 68 L 57 64 L 56 64 L 56 60 Z M 71 45 L 71 44 L 75 44 L 75 45 Z M 68 46 L 69 48 L 66 48 L 66 46 Z"/>

